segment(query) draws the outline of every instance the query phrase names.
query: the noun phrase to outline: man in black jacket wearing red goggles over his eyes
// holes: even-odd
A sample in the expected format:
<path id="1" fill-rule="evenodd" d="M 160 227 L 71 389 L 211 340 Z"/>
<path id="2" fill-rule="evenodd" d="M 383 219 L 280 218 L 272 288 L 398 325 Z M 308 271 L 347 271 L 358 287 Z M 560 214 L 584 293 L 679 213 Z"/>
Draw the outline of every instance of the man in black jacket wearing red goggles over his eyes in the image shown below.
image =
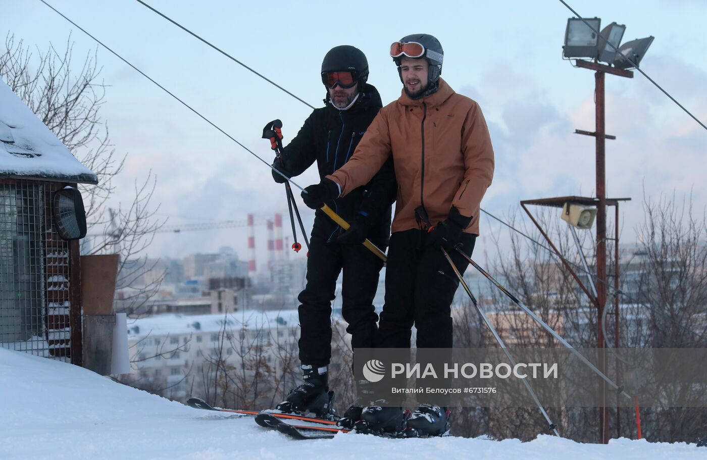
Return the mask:
<path id="1" fill-rule="evenodd" d="M 284 148 L 281 160 L 274 162 L 274 169 L 286 177 L 294 177 L 316 161 L 320 177 L 324 178 L 344 165 L 382 107 L 378 90 L 367 80 L 368 61 L 361 50 L 349 45 L 332 48 L 322 61 L 326 105 L 310 114 L 297 136 Z M 275 171 L 273 178 L 275 182 L 285 181 Z M 307 285 L 298 297 L 300 362 L 305 383 L 292 389 L 286 401 L 278 404 L 279 409 L 322 415 L 329 411 L 331 302 L 342 270 L 341 314 L 349 324 L 346 331 L 351 334 L 351 347 L 373 348 L 378 321 L 373 297 L 382 261 L 361 243 L 368 238 L 385 251 L 396 194 L 397 182 L 390 160 L 365 186 L 346 198 L 327 201 L 351 225 L 349 230 L 343 232 L 323 211 L 316 211 Z M 361 365 L 354 365 L 357 384 L 366 384 L 357 370 L 361 372 Z M 356 406 L 351 410 L 360 412 Z"/>

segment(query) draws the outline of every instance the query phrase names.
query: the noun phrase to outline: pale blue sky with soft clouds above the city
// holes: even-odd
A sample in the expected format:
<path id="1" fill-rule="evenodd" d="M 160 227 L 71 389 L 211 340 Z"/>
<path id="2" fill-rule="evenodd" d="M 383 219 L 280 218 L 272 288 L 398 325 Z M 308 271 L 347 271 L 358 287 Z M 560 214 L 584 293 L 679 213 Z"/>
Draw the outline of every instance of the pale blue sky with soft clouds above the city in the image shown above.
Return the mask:
<path id="1" fill-rule="evenodd" d="M 267 160 L 262 126 L 282 119 L 287 141 L 311 112 L 136 1 L 47 1 Z M 479 102 L 491 129 L 496 174 L 482 207 L 501 216 L 522 199 L 594 194 L 594 138 L 573 134 L 595 129 L 594 73 L 562 59 L 572 14 L 559 1 L 148 3 L 316 107 L 325 95 L 321 60 L 331 47 L 349 44 L 366 53 L 369 82 L 385 104 L 401 88 L 387 56 L 390 43 L 409 33 L 436 35 L 445 49 L 443 78 Z M 626 24 L 624 41 L 654 35 L 641 69 L 707 122 L 707 2 L 568 3 L 585 17 L 602 18 L 602 27 Z M 0 0 L 0 11 L 2 28 L 25 45 L 61 46 L 71 34 L 75 57 L 98 46 L 38 0 Z M 263 223 L 276 212 L 287 219 L 284 190 L 262 163 L 100 47 L 98 60 L 110 85 L 103 117 L 117 152 L 128 155 L 114 206 L 127 204 L 134 181 L 151 170 L 153 201 L 168 225 L 245 220 L 247 213 Z M 707 205 L 707 131 L 638 72 L 633 79 L 607 76 L 606 88 L 607 134 L 617 136 L 607 141 L 607 192 L 633 199 L 622 206 L 628 242 L 636 239 L 644 190 L 650 199 L 692 191 L 698 209 Z M 296 182 L 317 182 L 311 169 Z M 310 221 L 312 213 L 300 209 Z M 481 225 L 486 235 L 498 232 L 485 217 Z M 287 220 L 285 229 L 287 235 Z M 160 235 L 148 252 L 184 256 L 228 244 L 245 258 L 245 235 L 243 229 Z M 256 237 L 264 246 L 264 226 Z"/>

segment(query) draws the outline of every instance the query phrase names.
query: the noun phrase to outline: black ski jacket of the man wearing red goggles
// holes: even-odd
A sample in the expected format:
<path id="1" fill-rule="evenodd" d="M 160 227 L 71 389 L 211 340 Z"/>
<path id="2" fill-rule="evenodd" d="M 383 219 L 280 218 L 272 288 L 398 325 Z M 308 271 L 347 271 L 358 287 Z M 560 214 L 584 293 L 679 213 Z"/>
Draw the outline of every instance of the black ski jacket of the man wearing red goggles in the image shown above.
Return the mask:
<path id="1" fill-rule="evenodd" d="M 378 90 L 368 83 L 349 110 L 334 107 L 328 94 L 325 102 L 325 107 L 315 109 L 297 136 L 284 148 L 284 169 L 291 177 L 302 174 L 315 161 L 322 179 L 339 169 L 354 155 L 358 142 L 382 107 Z M 329 201 L 327 205 L 347 222 L 357 216 L 359 211 L 368 214 L 373 223 L 368 232 L 368 240 L 387 247 L 391 205 L 396 195 L 397 182 L 390 158 L 368 184 L 358 187 L 344 198 Z M 317 209 L 312 235 L 332 241 L 338 236 L 337 230 L 339 226 Z"/>

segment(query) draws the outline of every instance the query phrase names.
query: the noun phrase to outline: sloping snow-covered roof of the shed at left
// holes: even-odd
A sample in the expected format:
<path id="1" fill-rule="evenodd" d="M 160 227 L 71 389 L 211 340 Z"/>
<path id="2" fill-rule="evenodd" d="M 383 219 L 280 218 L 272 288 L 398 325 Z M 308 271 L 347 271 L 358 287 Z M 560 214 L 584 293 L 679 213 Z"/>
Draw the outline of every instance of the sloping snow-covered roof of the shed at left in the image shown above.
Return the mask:
<path id="1" fill-rule="evenodd" d="M 1 78 L 0 177 L 98 183 Z"/>

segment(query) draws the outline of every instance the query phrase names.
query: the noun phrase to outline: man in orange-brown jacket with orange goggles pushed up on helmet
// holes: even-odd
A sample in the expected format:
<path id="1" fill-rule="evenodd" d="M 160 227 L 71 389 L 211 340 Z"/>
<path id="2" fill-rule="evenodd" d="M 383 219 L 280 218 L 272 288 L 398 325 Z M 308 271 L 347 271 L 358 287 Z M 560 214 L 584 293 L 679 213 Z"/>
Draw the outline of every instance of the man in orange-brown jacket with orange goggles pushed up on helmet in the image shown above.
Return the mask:
<path id="1" fill-rule="evenodd" d="M 450 305 L 459 281 L 440 248 L 460 273 L 479 235 L 479 208 L 493 177 L 493 148 L 479 105 L 440 78 L 443 49 L 432 35 L 415 34 L 391 45 L 403 90 L 368 127 L 354 156 L 319 184 L 305 189 L 310 208 L 366 184 L 392 155 L 398 182 L 395 218 L 380 315 L 379 348 L 451 348 Z M 433 226 L 434 225 L 434 226 Z M 461 244 L 461 246 L 459 246 Z M 449 412 L 423 405 L 407 421 L 423 435 L 449 429 Z M 370 406 L 362 420 L 375 430 L 395 431 L 402 411 Z"/>

